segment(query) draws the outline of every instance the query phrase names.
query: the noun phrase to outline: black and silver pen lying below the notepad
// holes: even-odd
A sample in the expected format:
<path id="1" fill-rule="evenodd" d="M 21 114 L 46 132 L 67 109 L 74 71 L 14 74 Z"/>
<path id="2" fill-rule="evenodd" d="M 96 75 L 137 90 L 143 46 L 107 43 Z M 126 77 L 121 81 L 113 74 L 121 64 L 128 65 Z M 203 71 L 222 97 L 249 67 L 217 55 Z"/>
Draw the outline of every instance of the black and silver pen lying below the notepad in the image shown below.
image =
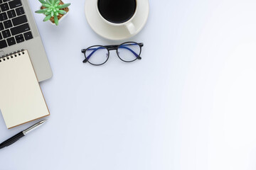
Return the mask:
<path id="1" fill-rule="evenodd" d="M 43 123 L 45 123 L 45 122 L 46 122 L 46 120 L 41 120 L 40 122 L 38 122 L 34 125 L 31 125 L 31 127 L 26 128 L 26 130 L 19 132 L 18 134 L 14 135 L 13 137 L 10 137 L 8 140 L 6 140 L 0 144 L 0 149 L 2 149 L 4 147 L 8 147 L 9 145 L 13 144 L 17 140 L 21 139 L 21 137 L 27 135 L 32 130 L 35 130 L 39 126 L 43 125 Z"/>

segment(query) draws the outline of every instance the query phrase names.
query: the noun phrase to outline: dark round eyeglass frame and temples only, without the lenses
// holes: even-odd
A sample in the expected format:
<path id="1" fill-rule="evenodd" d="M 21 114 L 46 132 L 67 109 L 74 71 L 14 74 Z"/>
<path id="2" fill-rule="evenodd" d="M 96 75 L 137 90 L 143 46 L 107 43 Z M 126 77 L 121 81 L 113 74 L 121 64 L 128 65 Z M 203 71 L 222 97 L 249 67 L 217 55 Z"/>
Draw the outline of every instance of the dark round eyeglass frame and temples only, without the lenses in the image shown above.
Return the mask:
<path id="1" fill-rule="evenodd" d="M 139 45 L 139 54 L 137 54 L 136 52 L 134 52 L 134 50 L 130 49 L 129 47 L 125 47 L 125 45 L 132 45 L 132 44 L 128 44 L 128 43 L 133 43 L 134 45 Z M 86 63 L 86 62 L 89 62 L 90 64 L 92 65 L 95 65 L 95 66 L 99 66 L 99 65 L 102 65 L 102 64 L 105 64 L 107 62 L 107 60 L 109 59 L 110 57 L 110 50 L 117 50 L 117 56 L 119 57 L 120 60 L 122 60 L 122 58 L 119 56 L 118 54 L 118 49 L 119 48 L 125 48 L 127 50 L 129 50 L 130 52 L 132 52 L 134 55 L 135 55 L 135 59 L 134 60 L 131 60 L 131 61 L 126 61 L 126 60 L 122 60 L 123 62 L 134 62 L 135 60 L 142 60 L 142 57 L 140 57 L 141 53 L 142 53 L 142 47 L 144 46 L 144 44 L 142 42 L 140 43 L 137 43 L 137 42 L 124 42 L 120 45 L 93 45 L 93 46 L 90 46 L 90 47 L 87 47 L 86 49 L 82 49 L 82 53 L 86 53 L 87 50 L 93 50 L 89 56 L 85 56 L 85 60 L 83 60 L 82 62 L 83 63 Z M 92 47 L 97 47 L 97 48 L 92 48 Z M 108 52 L 107 54 L 107 60 L 105 62 L 103 62 L 102 64 L 93 64 L 89 61 L 90 57 L 99 49 L 103 49 L 105 48 Z"/>

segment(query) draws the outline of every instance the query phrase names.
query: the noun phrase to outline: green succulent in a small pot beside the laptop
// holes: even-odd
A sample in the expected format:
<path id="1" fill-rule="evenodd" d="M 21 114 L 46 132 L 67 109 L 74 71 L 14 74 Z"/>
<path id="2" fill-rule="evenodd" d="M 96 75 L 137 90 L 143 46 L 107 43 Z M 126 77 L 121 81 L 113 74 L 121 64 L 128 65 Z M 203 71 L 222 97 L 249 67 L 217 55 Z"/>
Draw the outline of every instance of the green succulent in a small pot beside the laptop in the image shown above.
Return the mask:
<path id="1" fill-rule="evenodd" d="M 38 0 L 41 2 L 41 9 L 36 11 L 36 13 L 43 13 L 46 18 L 43 21 L 48 21 L 55 23 L 58 26 L 60 18 L 68 13 L 70 3 L 64 4 L 61 0 Z"/>

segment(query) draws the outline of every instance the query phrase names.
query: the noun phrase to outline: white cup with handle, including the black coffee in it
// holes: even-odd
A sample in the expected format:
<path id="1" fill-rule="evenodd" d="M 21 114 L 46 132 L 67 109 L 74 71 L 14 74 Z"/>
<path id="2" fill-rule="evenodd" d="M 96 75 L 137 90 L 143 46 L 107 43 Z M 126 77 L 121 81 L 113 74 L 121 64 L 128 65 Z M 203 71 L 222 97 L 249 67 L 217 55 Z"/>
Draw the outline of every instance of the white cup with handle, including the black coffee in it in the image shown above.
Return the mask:
<path id="1" fill-rule="evenodd" d="M 96 8 L 102 21 L 111 26 L 125 26 L 130 35 L 137 29 L 132 23 L 137 14 L 139 0 L 97 0 Z"/>

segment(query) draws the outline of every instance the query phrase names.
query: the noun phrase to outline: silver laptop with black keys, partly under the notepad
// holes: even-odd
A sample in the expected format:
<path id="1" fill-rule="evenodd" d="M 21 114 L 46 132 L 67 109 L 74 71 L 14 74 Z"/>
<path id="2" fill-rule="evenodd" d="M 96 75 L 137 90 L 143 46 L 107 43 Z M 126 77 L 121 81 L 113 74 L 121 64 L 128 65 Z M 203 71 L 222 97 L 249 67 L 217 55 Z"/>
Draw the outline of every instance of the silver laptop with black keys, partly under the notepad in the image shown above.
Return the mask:
<path id="1" fill-rule="evenodd" d="M 52 77 L 28 0 L 0 0 L 0 56 L 28 50 L 38 81 Z"/>

